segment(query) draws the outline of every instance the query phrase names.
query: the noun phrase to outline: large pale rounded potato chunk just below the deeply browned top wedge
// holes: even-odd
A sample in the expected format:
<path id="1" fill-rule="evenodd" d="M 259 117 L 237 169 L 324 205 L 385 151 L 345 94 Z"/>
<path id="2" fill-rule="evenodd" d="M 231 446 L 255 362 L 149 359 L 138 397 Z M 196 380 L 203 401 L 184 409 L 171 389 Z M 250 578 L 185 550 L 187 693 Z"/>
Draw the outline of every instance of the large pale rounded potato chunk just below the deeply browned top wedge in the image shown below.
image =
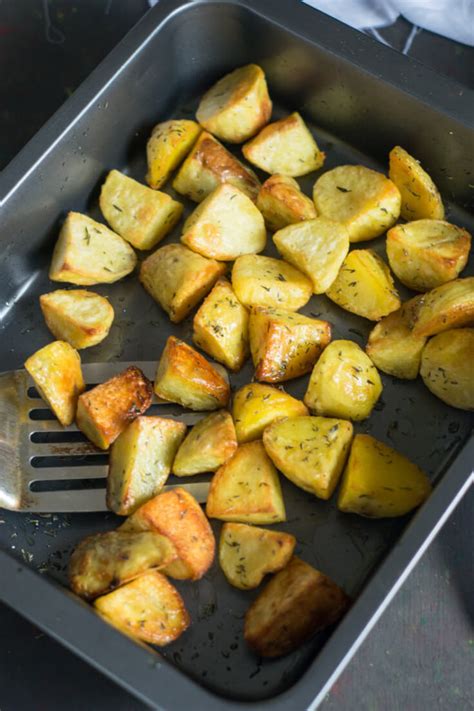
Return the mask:
<path id="1" fill-rule="evenodd" d="M 181 242 L 203 257 L 231 261 L 265 249 L 267 232 L 263 217 L 250 198 L 224 183 L 190 214 Z"/>

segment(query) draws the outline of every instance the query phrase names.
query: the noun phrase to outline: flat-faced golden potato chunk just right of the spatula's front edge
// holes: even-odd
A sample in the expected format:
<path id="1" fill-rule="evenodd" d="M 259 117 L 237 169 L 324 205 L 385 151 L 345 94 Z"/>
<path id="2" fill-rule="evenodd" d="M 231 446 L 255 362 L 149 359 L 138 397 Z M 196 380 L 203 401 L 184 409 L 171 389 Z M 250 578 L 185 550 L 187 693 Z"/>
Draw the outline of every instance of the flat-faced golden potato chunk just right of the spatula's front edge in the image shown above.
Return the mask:
<path id="1" fill-rule="evenodd" d="M 286 520 L 278 472 L 260 441 L 241 445 L 214 474 L 206 514 L 242 523 Z"/>

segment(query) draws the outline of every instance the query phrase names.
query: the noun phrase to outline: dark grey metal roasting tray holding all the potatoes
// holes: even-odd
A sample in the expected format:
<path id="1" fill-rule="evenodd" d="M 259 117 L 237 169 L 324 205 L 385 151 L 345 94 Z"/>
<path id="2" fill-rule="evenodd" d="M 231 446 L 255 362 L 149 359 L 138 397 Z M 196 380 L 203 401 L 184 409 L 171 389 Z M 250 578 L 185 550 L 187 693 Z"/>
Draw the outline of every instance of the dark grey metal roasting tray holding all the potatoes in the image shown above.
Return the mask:
<path id="1" fill-rule="evenodd" d="M 302 112 L 327 152 L 324 169 L 361 162 L 385 170 L 399 143 L 439 185 L 448 219 L 473 230 L 473 92 L 300 3 L 161 0 L 0 177 L 0 371 L 21 367 L 51 338 L 38 296 L 54 288 L 47 267 L 67 211 L 99 217 L 106 172 L 143 180 L 154 123 L 193 116 L 210 83 L 250 61 L 267 73 L 276 116 Z M 301 181 L 306 192 L 314 179 Z M 383 252 L 383 240 L 370 246 Z M 170 327 L 136 275 L 97 291 L 117 316 L 105 342 L 83 352 L 86 362 L 156 359 L 171 331 L 189 341 L 191 320 Z M 324 296 L 304 313 L 331 321 L 334 338 L 365 343 L 370 324 Z M 247 364 L 232 384 L 251 377 Z M 199 583 L 178 584 L 193 624 L 162 652 L 105 624 L 64 584 L 72 547 L 115 526 L 112 514 L 0 511 L 0 599 L 156 708 L 314 708 L 472 481 L 469 414 L 443 405 L 419 380 L 382 377 L 382 399 L 356 429 L 408 455 L 436 486 L 413 516 L 372 521 L 282 480 L 288 522 L 279 528 L 355 599 L 334 630 L 292 655 L 262 661 L 247 650 L 243 615 L 257 592 L 231 588 L 217 564 Z M 292 381 L 289 392 L 301 396 L 306 382 Z"/>

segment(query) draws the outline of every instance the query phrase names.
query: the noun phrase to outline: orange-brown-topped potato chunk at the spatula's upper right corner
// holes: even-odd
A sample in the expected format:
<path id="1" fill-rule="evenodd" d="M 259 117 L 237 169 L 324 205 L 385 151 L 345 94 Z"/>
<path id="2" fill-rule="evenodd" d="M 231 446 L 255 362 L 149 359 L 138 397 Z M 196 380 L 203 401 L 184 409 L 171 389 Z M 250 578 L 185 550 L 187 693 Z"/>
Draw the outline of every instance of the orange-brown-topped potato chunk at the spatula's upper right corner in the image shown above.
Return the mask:
<path id="1" fill-rule="evenodd" d="M 155 377 L 158 397 L 190 410 L 218 410 L 229 401 L 229 383 L 200 353 L 170 336 Z"/>

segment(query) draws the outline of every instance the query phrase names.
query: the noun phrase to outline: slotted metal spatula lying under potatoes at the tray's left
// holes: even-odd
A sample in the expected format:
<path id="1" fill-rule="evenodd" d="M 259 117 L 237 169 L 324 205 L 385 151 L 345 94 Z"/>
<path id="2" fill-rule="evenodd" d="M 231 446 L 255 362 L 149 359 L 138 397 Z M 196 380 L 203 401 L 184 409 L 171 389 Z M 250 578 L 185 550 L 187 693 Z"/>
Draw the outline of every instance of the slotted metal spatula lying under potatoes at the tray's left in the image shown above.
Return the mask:
<path id="1" fill-rule="evenodd" d="M 89 363 L 83 364 L 82 372 L 87 385 L 92 386 L 129 365 L 136 365 L 150 379 L 154 377 L 154 361 Z M 193 425 L 205 413 L 185 412 L 178 405 L 155 399 L 148 414 Z M 0 374 L 0 508 L 42 513 L 105 511 L 107 456 L 75 425 L 60 425 L 25 370 Z M 207 498 L 207 482 L 180 480 L 179 486 L 200 502 Z M 173 485 L 164 490 L 170 488 Z"/>

